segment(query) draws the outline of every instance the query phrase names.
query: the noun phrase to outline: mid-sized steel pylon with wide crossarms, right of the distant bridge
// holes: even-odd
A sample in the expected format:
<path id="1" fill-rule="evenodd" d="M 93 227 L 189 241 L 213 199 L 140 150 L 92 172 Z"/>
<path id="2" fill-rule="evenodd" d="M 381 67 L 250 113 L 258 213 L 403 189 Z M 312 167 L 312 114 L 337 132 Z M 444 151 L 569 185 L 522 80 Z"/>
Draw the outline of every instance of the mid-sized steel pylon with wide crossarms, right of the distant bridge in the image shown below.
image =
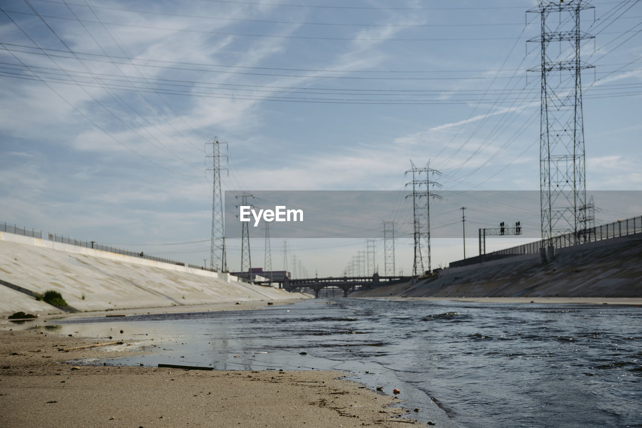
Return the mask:
<path id="1" fill-rule="evenodd" d="M 431 180 L 431 175 L 441 175 L 436 169 L 431 169 L 429 164 L 422 168 L 417 168 L 410 161 L 412 169 L 408 169 L 406 174 L 412 174 L 412 182 L 406 183 L 406 186 L 412 184 L 412 194 L 406 195 L 406 199 L 412 197 L 412 215 L 413 215 L 413 237 L 415 241 L 415 260 L 412 264 L 413 275 L 423 275 L 426 270 L 431 270 L 430 266 L 430 198 L 438 198 L 435 193 L 430 192 L 430 187 L 441 185 Z"/>

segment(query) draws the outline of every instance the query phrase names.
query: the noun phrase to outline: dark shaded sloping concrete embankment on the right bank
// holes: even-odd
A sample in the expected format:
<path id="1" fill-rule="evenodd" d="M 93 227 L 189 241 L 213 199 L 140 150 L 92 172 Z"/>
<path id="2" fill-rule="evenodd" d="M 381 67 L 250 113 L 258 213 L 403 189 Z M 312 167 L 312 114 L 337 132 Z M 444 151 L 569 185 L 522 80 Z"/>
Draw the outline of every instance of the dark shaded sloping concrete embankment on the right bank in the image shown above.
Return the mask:
<path id="1" fill-rule="evenodd" d="M 357 291 L 351 297 L 642 297 L 642 234 L 556 250 L 555 259 L 513 257 L 439 278 Z"/>

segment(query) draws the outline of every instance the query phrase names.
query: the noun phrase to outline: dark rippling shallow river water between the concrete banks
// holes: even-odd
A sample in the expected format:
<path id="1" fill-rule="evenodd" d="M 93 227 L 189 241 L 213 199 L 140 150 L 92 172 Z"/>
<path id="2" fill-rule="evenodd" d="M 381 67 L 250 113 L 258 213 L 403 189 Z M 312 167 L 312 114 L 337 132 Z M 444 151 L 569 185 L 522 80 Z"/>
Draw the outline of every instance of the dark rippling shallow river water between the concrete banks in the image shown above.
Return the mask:
<path id="1" fill-rule="evenodd" d="M 403 406 L 420 409 L 412 416 L 437 426 L 642 427 L 636 306 L 338 298 L 56 322 L 148 344 L 108 364 L 341 370 L 400 389 Z"/>

